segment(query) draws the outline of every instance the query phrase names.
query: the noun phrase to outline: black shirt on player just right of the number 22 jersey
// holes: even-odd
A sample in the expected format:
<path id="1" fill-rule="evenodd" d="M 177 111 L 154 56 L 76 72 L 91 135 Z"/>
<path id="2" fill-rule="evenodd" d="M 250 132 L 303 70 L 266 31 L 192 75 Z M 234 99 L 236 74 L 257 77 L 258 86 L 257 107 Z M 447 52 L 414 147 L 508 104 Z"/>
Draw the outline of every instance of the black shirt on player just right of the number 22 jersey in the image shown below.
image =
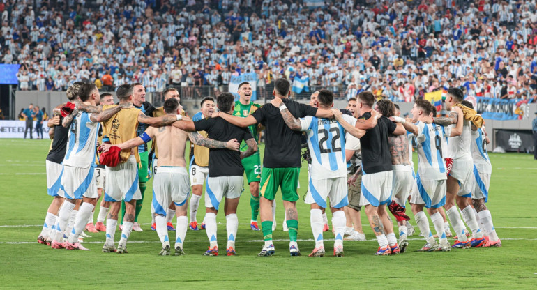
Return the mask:
<path id="1" fill-rule="evenodd" d="M 360 119 L 370 119 L 371 113 L 367 112 Z M 395 131 L 397 125 L 385 116 L 381 116 L 375 128 L 367 130 L 360 138 L 362 146 L 362 170 L 363 174 L 372 174 L 391 170 L 390 147 L 388 146 L 388 134 Z"/>

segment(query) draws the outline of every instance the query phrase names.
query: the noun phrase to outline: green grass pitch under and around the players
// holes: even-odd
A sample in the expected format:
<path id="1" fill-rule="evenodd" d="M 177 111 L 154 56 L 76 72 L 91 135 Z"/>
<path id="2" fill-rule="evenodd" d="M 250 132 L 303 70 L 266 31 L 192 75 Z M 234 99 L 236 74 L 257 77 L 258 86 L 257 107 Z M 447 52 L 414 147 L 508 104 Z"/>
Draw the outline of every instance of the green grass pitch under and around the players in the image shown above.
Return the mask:
<path id="1" fill-rule="evenodd" d="M 273 257 L 257 257 L 263 236 L 261 231 L 250 230 L 250 194 L 245 187 L 238 211 L 238 256 L 225 257 L 227 236 L 222 211 L 217 217 L 222 256 L 203 257 L 209 245 L 205 231 L 188 230 L 184 244 L 186 256 L 160 257 L 157 255 L 160 241 L 156 232 L 149 229 L 152 179 L 139 218 L 144 231 L 133 231 L 130 235 L 129 254 L 101 252 L 105 233 L 91 234 L 92 238 L 85 239 L 84 246 L 89 252 L 52 250 L 36 242 L 45 211 L 52 201 L 46 193 L 45 175 L 49 145 L 47 140 L 0 140 L 0 288 L 96 289 L 114 285 L 159 289 L 177 285 L 185 289 L 303 289 L 322 285 L 343 289 L 534 289 L 537 284 L 537 257 L 531 254 L 537 245 L 534 210 L 537 162 L 531 155 L 490 154 L 493 172 L 487 206 L 502 240 L 500 248 L 415 252 L 425 241 L 418 237 L 418 227 L 409 213 L 416 234 L 411 237 L 408 252 L 395 257 L 376 257 L 372 254 L 378 244 L 362 213 L 368 241 L 345 241 L 345 257 L 331 257 L 333 234 L 326 232 L 325 240 L 331 241 L 324 244 L 330 257 L 307 257 L 315 242 L 309 206 L 301 199 L 297 201 L 298 246 L 303 257 L 289 257 L 289 236 L 282 231 L 283 206 L 278 194 L 278 228 L 273 235 L 276 253 Z M 264 146 L 260 147 L 263 152 Z M 416 154 L 414 161 L 417 161 Z M 303 167 L 302 188 L 298 190 L 301 198 L 305 195 L 307 176 Z M 203 206 L 202 200 L 197 215 L 199 222 L 203 220 Z M 120 233 L 116 231 L 116 242 Z M 174 232 L 169 232 L 169 236 L 174 240 Z M 450 241 L 453 243 L 453 239 Z"/>

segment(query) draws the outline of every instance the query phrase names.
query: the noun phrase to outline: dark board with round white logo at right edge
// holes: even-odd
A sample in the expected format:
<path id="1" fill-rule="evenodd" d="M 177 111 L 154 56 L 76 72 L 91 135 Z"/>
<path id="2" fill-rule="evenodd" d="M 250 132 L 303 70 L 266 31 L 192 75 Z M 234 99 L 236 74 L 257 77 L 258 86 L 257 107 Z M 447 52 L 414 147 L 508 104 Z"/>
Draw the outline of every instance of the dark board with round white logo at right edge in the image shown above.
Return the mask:
<path id="1" fill-rule="evenodd" d="M 531 130 L 496 130 L 496 144 L 511 152 L 533 152 L 534 137 Z"/>

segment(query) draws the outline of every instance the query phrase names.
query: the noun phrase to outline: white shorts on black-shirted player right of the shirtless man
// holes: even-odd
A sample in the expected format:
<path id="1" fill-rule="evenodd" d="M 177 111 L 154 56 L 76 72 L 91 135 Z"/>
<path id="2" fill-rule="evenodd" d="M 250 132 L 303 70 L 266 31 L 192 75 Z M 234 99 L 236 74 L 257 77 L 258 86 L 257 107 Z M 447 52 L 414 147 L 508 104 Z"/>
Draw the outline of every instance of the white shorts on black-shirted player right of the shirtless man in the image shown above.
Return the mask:
<path id="1" fill-rule="evenodd" d="M 205 207 L 218 210 L 222 197 L 236 199 L 241 197 L 243 190 L 243 176 L 209 177 L 205 185 Z"/>

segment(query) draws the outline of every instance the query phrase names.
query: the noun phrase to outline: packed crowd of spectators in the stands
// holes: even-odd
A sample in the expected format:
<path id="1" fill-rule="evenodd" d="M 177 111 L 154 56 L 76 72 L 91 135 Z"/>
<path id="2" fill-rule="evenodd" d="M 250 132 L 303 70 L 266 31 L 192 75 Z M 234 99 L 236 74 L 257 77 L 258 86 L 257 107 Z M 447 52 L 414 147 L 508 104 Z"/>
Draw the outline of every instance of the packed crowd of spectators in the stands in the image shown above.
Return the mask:
<path id="1" fill-rule="evenodd" d="M 3 0 L 2 63 L 20 90 L 142 82 L 222 88 L 308 77 L 340 98 L 410 102 L 438 88 L 537 100 L 536 0 Z M 190 98 L 192 96 L 182 96 Z"/>

